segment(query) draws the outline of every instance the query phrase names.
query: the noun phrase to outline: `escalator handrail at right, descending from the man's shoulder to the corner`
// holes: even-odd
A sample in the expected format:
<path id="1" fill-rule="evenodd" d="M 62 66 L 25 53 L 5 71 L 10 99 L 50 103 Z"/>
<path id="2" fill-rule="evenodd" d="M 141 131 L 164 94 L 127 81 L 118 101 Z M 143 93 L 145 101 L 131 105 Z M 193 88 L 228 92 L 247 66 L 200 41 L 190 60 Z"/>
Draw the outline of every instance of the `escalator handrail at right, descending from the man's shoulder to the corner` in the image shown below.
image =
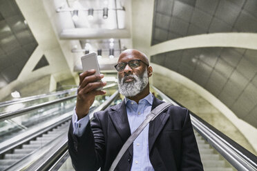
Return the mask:
<path id="1" fill-rule="evenodd" d="M 161 97 L 173 103 L 174 105 L 180 105 L 179 103 L 171 100 L 157 88 L 154 88 L 160 94 Z M 182 106 L 183 107 L 183 106 Z M 257 170 L 257 158 L 254 154 L 251 154 L 248 150 L 241 145 L 229 139 L 225 134 L 213 128 L 209 123 L 197 117 L 196 114 L 190 111 L 191 123 L 198 133 L 210 143 L 220 154 L 222 154 L 231 165 L 237 170 Z"/>

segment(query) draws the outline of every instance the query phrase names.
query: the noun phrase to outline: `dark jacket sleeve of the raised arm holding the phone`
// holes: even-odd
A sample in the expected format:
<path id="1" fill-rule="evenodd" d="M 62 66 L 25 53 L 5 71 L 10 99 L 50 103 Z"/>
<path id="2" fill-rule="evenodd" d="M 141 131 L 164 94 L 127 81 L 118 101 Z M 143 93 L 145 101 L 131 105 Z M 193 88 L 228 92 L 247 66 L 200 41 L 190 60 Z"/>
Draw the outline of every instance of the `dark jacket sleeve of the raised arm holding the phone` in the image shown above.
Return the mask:
<path id="1" fill-rule="evenodd" d="M 98 170 L 104 163 L 105 141 L 102 125 L 94 114 L 91 124 L 86 125 L 81 137 L 73 134 L 73 125 L 68 131 L 68 151 L 75 170 Z"/>

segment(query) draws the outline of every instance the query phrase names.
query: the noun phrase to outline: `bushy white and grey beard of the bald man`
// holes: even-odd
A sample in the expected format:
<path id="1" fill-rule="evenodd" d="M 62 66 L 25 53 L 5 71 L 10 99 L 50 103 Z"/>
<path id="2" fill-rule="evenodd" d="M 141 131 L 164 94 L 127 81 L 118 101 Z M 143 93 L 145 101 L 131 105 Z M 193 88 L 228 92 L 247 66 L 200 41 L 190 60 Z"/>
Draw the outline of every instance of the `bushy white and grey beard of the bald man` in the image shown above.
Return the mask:
<path id="1" fill-rule="evenodd" d="M 142 90 L 144 90 L 149 83 L 147 70 L 144 71 L 142 76 L 137 76 L 134 74 L 129 74 L 128 76 L 133 77 L 134 80 L 126 83 L 124 82 L 126 76 L 120 79 L 118 75 L 118 87 L 120 94 L 124 95 L 125 97 L 135 97 L 135 95 L 142 92 Z"/>

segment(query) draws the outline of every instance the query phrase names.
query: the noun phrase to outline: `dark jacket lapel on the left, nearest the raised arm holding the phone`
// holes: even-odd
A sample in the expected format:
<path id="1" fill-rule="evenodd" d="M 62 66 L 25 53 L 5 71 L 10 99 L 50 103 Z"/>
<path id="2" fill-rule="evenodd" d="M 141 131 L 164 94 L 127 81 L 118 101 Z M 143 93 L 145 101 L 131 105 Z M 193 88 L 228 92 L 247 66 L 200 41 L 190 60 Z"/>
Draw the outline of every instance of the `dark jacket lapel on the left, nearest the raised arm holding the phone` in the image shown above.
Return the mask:
<path id="1" fill-rule="evenodd" d="M 128 123 L 125 101 L 123 100 L 122 103 L 111 108 L 113 111 L 109 112 L 108 114 L 111 118 L 111 121 L 113 121 L 113 125 L 115 126 L 118 134 L 120 134 L 123 143 L 125 143 L 128 137 L 131 136 L 131 128 L 129 127 Z M 133 154 L 133 145 L 128 148 L 128 151 Z"/>

